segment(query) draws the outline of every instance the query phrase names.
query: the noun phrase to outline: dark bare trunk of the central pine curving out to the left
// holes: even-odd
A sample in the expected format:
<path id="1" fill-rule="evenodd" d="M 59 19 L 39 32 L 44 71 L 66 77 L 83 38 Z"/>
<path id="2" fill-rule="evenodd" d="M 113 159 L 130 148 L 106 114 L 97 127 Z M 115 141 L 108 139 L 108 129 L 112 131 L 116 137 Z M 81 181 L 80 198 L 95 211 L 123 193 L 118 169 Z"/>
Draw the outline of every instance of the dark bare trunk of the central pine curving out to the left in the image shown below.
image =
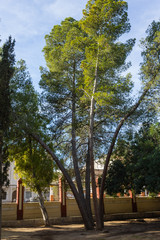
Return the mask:
<path id="1" fill-rule="evenodd" d="M 65 179 L 67 180 L 73 194 L 74 197 L 76 199 L 76 202 L 78 204 L 80 213 L 82 215 L 83 221 L 84 221 L 84 225 L 85 228 L 87 230 L 92 230 L 94 229 L 92 221 L 90 220 L 88 213 L 86 212 L 86 208 L 84 208 L 84 205 L 81 201 L 79 192 L 77 191 L 75 184 L 73 183 L 71 177 L 69 176 L 67 170 L 64 168 L 63 164 L 60 162 L 60 160 L 57 158 L 57 156 L 54 154 L 54 152 L 42 141 L 42 139 L 40 139 L 40 137 L 36 134 L 31 134 L 31 136 L 41 144 L 41 146 L 50 154 L 50 156 L 52 157 L 52 159 L 56 162 L 57 166 L 59 167 L 59 169 L 61 170 L 61 172 L 63 173 L 63 176 L 65 177 Z"/>

